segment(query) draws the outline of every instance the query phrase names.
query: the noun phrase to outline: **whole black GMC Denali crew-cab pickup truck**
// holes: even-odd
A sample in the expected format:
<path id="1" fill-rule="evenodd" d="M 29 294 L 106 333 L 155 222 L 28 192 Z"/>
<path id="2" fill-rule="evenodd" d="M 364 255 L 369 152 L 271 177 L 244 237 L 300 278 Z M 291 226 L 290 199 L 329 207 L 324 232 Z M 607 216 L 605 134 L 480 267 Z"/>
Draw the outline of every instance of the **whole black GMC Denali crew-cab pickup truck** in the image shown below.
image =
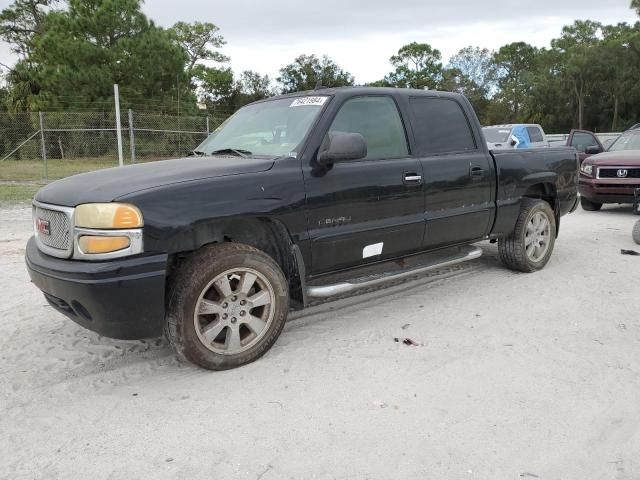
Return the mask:
<path id="1" fill-rule="evenodd" d="M 264 354 L 290 309 L 476 258 L 480 240 L 541 269 L 577 185 L 572 148 L 487 150 L 459 94 L 318 89 L 240 109 L 189 158 L 44 187 L 26 263 L 80 325 L 164 332 L 227 369 Z"/>

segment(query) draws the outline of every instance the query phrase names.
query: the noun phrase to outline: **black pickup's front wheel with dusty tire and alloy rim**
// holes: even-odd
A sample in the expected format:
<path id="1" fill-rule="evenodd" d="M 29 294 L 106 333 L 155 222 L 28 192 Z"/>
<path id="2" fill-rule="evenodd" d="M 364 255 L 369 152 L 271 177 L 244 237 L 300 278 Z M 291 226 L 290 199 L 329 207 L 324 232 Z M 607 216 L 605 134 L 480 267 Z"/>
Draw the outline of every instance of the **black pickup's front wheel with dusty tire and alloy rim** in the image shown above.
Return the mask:
<path id="1" fill-rule="evenodd" d="M 264 355 L 288 312 L 288 282 L 271 257 L 248 245 L 216 244 L 172 275 L 165 335 L 181 359 L 227 370 Z"/>

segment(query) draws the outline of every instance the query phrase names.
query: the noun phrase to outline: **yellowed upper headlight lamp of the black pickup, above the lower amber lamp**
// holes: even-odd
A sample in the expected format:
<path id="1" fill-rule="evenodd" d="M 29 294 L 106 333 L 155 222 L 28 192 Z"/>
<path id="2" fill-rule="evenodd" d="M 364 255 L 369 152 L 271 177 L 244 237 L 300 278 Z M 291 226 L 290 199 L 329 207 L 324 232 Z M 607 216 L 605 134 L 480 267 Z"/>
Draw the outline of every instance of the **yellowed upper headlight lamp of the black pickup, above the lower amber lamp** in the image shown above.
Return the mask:
<path id="1" fill-rule="evenodd" d="M 140 228 L 142 214 L 126 203 L 86 203 L 76 207 L 75 225 L 81 228 Z"/>

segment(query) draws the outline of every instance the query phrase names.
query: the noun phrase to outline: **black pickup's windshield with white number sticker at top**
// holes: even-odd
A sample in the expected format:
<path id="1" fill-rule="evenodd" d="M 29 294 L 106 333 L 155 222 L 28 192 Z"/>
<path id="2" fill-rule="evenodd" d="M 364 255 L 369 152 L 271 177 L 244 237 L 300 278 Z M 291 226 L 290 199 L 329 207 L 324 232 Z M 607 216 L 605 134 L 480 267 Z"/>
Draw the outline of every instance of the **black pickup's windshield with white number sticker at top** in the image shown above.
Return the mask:
<path id="1" fill-rule="evenodd" d="M 295 97 L 241 108 L 196 149 L 279 157 L 296 151 L 329 97 Z"/>

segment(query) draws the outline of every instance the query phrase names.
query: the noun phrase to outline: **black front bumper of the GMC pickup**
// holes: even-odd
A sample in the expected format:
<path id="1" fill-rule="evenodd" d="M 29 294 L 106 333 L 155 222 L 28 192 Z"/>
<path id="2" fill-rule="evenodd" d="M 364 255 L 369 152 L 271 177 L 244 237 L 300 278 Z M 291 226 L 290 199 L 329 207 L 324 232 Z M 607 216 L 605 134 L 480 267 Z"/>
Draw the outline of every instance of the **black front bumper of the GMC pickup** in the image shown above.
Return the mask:
<path id="1" fill-rule="evenodd" d="M 166 254 L 105 262 L 45 255 L 31 237 L 26 263 L 49 304 L 79 325 L 122 340 L 159 337 L 164 326 Z"/>

